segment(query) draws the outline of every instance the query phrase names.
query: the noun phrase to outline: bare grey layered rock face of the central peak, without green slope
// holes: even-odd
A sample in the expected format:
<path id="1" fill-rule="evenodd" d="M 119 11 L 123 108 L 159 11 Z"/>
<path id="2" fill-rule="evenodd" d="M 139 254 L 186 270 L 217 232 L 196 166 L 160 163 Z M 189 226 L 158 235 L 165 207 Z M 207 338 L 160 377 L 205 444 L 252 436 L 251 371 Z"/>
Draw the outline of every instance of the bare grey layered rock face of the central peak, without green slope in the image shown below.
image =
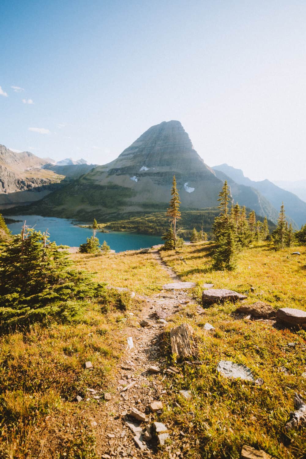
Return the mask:
<path id="1" fill-rule="evenodd" d="M 83 182 L 132 190 L 127 205 L 139 211 L 150 203 L 169 202 L 173 175 L 183 208 L 217 205 L 222 182 L 194 150 L 182 124 L 164 121 L 145 131 L 117 159 L 87 174 Z"/>

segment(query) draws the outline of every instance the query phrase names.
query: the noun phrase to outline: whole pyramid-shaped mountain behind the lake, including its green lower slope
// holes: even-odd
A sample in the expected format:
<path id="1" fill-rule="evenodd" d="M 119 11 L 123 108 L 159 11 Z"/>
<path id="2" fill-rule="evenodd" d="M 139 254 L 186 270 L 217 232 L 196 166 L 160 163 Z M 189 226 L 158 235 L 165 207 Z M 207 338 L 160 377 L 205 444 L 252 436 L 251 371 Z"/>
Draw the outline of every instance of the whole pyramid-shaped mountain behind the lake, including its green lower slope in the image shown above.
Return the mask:
<path id="1" fill-rule="evenodd" d="M 216 207 L 222 182 L 192 146 L 179 121 L 152 126 L 114 161 L 92 169 L 40 203 L 31 213 L 118 219 L 165 211 L 175 174 L 185 210 Z"/>

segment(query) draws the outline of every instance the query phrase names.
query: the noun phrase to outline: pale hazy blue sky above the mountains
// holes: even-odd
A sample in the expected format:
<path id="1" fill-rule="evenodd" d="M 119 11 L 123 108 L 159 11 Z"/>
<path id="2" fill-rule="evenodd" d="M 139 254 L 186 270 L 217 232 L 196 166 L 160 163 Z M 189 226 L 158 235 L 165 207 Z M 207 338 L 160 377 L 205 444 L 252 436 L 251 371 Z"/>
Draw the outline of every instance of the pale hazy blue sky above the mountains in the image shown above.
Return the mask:
<path id="1" fill-rule="evenodd" d="M 0 143 L 103 164 L 176 119 L 210 165 L 306 179 L 306 1 L 1 0 Z"/>

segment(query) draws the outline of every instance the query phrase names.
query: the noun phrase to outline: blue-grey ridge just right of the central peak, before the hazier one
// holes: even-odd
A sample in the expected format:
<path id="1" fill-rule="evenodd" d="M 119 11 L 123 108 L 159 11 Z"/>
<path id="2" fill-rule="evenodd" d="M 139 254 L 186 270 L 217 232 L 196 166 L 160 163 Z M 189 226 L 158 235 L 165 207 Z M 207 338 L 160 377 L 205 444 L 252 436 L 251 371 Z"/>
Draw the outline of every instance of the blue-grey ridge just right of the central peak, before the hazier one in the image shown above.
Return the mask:
<path id="1" fill-rule="evenodd" d="M 239 185 L 223 172 L 217 169 L 214 169 L 214 171 L 218 179 L 222 180 L 223 182 L 227 180 L 234 202 L 239 202 L 240 206 L 245 206 L 255 210 L 256 214 L 260 215 L 261 217 L 266 216 L 274 223 L 277 222 L 277 210 L 273 207 L 271 202 L 269 202 L 264 196 L 261 195 L 258 190 L 256 190 L 256 188 L 246 185 Z"/>

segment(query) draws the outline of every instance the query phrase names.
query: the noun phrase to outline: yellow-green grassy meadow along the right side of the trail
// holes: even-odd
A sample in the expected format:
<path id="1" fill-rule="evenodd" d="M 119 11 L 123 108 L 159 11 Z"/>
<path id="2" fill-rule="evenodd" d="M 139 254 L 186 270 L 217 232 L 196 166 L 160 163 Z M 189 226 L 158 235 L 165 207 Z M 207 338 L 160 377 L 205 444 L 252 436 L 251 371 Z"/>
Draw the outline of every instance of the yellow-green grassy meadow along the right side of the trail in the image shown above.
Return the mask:
<path id="1" fill-rule="evenodd" d="M 234 272 L 211 272 L 212 244 L 184 246 L 178 254 L 162 252 L 161 256 L 182 276 L 197 282 L 195 295 L 200 302 L 200 285 L 212 282 L 216 288 L 249 291 L 247 302 L 270 302 L 275 308 L 296 307 L 306 310 L 305 248 L 298 247 L 300 257 L 292 256 L 296 248 L 272 252 L 265 245 L 245 249 L 239 255 Z M 179 257 L 183 257 L 184 263 Z M 180 364 L 181 376 L 168 382 L 168 408 L 163 420 L 172 420 L 175 432 L 188 435 L 189 449 L 184 458 L 238 459 L 244 444 L 263 449 L 279 459 L 305 458 L 306 429 L 285 433 L 284 424 L 293 410 L 294 392 L 306 398 L 306 332 L 280 330 L 269 322 L 235 319 L 237 306 L 214 305 L 206 313 L 195 314 L 190 303 L 183 313 L 173 317 L 177 324 L 188 322 L 195 330 L 199 366 Z M 203 330 L 208 322 L 215 332 Z M 172 324 L 173 326 L 173 324 Z M 170 328 L 170 327 L 169 327 Z M 172 362 L 169 335 L 163 342 Z M 296 342 L 289 347 L 289 342 Z M 226 379 L 217 372 L 220 360 L 245 364 L 264 384 Z M 179 364 L 179 362 L 178 362 Z M 283 371 L 285 369 L 285 371 Z M 192 398 L 185 400 L 178 390 L 188 389 Z M 175 408 L 178 401 L 181 408 Z M 195 419 L 188 413 L 193 411 Z M 167 455 L 160 453 L 159 457 Z"/>

